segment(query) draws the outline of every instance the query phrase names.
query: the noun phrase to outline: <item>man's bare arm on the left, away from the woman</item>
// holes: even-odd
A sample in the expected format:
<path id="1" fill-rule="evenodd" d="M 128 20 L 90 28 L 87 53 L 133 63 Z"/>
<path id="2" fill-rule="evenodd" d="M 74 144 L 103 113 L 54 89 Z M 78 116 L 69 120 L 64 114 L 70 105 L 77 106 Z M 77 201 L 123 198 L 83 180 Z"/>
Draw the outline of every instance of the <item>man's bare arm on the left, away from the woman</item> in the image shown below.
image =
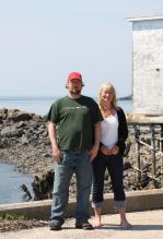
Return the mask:
<path id="1" fill-rule="evenodd" d="M 49 135 L 51 146 L 53 146 L 53 157 L 55 158 L 56 162 L 59 163 L 61 158 L 61 152 L 57 144 L 56 123 L 54 122 L 48 123 L 48 135 Z"/>

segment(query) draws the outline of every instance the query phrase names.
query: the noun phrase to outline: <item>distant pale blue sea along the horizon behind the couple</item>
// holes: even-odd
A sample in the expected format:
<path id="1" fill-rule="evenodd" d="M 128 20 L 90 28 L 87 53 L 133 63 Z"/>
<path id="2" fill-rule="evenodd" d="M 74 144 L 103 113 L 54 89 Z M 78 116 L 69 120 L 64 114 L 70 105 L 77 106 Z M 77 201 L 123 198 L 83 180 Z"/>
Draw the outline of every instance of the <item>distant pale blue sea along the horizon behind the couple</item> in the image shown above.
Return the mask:
<path id="1" fill-rule="evenodd" d="M 45 116 L 56 99 L 56 97 L 0 97 L 0 108 L 20 109 Z M 131 111 L 131 100 L 119 100 L 118 105 L 125 112 Z"/>

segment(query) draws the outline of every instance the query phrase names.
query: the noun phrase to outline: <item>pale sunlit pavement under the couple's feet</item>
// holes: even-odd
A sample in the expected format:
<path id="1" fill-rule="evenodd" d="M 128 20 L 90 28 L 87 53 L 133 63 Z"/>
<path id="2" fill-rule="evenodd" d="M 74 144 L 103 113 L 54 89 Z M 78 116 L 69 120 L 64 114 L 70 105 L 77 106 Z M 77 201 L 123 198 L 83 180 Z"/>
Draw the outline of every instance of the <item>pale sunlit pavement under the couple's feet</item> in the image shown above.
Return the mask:
<path id="1" fill-rule="evenodd" d="M 103 215 L 103 227 L 94 230 L 74 228 L 74 219 L 67 219 L 62 230 L 51 231 L 48 227 L 0 234 L 0 239 L 162 239 L 163 210 L 135 212 L 127 214 L 131 229 L 118 226 L 117 214 Z M 93 218 L 90 219 L 93 223 Z"/>

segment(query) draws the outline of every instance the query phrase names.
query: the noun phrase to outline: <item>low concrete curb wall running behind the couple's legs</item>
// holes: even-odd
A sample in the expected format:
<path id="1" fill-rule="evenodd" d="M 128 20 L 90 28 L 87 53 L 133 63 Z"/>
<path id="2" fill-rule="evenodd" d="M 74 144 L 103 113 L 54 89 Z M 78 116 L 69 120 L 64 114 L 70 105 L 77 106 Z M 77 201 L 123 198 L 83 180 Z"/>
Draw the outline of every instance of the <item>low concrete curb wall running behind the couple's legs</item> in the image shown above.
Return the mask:
<path id="1" fill-rule="evenodd" d="M 163 189 L 127 192 L 126 196 L 127 212 L 163 208 Z M 74 215 L 75 205 L 75 200 L 70 200 L 66 217 Z M 15 213 L 28 218 L 48 219 L 50 216 L 50 210 L 51 200 L 1 204 L 0 215 L 4 213 Z M 93 214 L 92 208 L 91 213 Z M 115 213 L 113 193 L 105 194 L 103 213 Z"/>

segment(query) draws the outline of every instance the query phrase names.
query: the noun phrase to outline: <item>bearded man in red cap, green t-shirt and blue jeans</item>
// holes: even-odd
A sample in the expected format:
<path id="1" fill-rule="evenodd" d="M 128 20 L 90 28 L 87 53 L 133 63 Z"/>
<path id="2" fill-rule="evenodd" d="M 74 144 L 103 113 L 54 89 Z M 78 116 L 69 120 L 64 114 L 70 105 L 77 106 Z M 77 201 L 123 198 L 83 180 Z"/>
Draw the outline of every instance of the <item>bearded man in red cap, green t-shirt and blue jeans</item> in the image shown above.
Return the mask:
<path id="1" fill-rule="evenodd" d="M 61 229 L 73 172 L 77 177 L 75 228 L 93 229 L 88 222 L 92 186 L 91 162 L 98 151 L 100 121 L 103 118 L 97 104 L 81 95 L 83 82 L 79 72 L 69 74 L 66 86 L 68 96 L 54 103 L 47 117 L 55 159 L 50 229 Z"/>

